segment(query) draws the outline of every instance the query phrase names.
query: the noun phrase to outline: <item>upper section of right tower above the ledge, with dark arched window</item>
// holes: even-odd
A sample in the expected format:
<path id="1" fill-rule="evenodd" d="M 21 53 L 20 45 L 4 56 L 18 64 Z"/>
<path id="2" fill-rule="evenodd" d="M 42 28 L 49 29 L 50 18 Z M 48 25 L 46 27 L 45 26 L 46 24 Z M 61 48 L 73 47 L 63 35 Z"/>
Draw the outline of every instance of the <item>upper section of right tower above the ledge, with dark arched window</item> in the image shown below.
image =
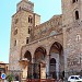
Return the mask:
<path id="1" fill-rule="evenodd" d="M 62 1 L 63 25 L 81 20 L 81 0 Z M 69 20 L 70 19 L 70 20 Z"/>

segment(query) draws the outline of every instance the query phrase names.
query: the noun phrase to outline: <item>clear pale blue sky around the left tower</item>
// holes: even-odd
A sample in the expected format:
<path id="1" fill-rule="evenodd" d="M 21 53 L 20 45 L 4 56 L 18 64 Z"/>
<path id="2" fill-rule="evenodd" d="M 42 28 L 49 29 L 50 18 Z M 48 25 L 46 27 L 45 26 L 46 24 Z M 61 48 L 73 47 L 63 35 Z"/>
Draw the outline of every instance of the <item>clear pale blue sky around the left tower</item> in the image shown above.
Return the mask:
<path id="1" fill-rule="evenodd" d="M 2 0 L 0 2 L 0 61 L 9 62 L 11 16 L 16 12 L 21 0 Z M 61 14 L 61 0 L 30 0 L 34 2 L 34 12 L 38 13 L 42 23 L 55 14 Z"/>

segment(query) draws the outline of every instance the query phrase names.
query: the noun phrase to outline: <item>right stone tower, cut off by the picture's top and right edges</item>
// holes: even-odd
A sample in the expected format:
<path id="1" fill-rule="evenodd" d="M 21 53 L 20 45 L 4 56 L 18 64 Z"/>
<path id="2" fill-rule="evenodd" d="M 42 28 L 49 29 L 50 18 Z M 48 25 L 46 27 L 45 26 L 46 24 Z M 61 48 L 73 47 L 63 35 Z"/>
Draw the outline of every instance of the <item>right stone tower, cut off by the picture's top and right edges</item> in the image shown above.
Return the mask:
<path id="1" fill-rule="evenodd" d="M 62 1 L 65 72 L 81 71 L 82 0 Z"/>

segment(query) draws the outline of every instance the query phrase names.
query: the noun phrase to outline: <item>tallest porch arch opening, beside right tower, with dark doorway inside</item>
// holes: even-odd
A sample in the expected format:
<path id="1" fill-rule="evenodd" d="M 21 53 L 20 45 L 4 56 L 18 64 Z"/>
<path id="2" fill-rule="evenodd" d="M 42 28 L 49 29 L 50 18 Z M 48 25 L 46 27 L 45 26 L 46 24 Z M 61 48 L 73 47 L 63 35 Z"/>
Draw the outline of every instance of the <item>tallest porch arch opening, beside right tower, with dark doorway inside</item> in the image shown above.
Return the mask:
<path id="1" fill-rule="evenodd" d="M 55 42 L 49 51 L 49 74 L 54 79 L 59 79 L 65 70 L 63 66 L 63 48 L 60 43 Z M 52 65 L 52 66 L 51 66 Z"/>

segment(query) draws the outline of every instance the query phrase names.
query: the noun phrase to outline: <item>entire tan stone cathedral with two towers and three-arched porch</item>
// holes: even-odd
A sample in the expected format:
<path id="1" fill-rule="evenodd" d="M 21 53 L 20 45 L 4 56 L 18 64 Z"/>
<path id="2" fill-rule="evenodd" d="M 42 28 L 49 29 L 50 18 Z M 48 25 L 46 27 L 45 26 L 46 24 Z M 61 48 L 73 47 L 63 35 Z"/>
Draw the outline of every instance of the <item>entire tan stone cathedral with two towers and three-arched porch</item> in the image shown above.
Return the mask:
<path id="1" fill-rule="evenodd" d="M 33 2 L 17 3 L 11 24 L 10 70 L 39 79 L 82 70 L 82 0 L 61 0 L 61 5 L 62 14 L 40 24 Z"/>

